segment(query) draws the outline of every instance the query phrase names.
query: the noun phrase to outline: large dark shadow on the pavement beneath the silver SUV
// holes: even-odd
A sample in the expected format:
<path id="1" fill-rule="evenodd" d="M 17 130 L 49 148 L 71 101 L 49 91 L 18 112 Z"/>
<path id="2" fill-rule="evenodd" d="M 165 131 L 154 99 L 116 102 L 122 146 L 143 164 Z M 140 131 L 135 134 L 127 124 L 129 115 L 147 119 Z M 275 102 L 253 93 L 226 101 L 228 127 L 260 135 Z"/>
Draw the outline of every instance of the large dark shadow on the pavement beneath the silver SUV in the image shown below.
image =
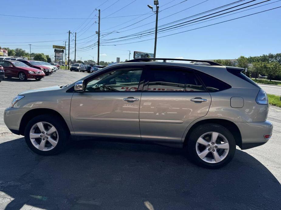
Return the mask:
<path id="1" fill-rule="evenodd" d="M 224 168 L 210 170 L 195 166 L 183 150 L 164 146 L 80 141 L 58 155 L 39 156 L 19 138 L 0 144 L 0 170 L 0 193 L 13 198 L 5 209 L 25 204 L 44 209 L 276 209 L 281 204 L 278 180 L 241 150 Z"/>

